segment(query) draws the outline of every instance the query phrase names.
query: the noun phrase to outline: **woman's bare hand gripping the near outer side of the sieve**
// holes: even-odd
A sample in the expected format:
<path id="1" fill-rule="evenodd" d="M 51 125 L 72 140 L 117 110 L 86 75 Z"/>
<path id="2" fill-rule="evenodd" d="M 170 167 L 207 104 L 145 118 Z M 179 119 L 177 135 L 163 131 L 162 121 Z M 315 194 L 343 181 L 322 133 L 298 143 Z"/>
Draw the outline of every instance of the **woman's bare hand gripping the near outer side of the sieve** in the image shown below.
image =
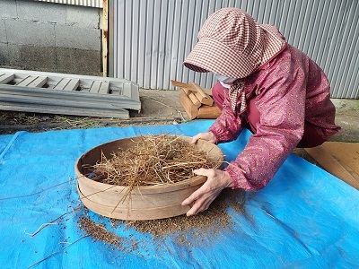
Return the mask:
<path id="1" fill-rule="evenodd" d="M 182 205 L 192 204 L 187 216 L 195 215 L 208 209 L 209 205 L 225 187 L 232 187 L 232 180 L 228 172 L 220 169 L 196 169 L 197 175 L 206 176 L 205 184 L 182 202 Z"/>

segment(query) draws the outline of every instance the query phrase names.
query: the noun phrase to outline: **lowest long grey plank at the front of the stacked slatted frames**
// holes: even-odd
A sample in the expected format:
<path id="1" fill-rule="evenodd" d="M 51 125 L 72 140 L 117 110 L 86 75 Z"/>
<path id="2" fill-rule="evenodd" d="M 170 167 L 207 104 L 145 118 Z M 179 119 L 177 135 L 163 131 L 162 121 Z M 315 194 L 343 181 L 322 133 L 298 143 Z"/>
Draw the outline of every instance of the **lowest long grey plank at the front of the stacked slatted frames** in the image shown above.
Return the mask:
<path id="1" fill-rule="evenodd" d="M 0 100 L 0 110 L 6 111 L 23 111 L 34 113 L 58 114 L 58 115 L 75 115 L 90 117 L 118 117 L 129 118 L 129 112 L 126 109 L 97 109 L 97 108 L 71 108 L 48 106 L 46 104 L 15 104 Z"/>

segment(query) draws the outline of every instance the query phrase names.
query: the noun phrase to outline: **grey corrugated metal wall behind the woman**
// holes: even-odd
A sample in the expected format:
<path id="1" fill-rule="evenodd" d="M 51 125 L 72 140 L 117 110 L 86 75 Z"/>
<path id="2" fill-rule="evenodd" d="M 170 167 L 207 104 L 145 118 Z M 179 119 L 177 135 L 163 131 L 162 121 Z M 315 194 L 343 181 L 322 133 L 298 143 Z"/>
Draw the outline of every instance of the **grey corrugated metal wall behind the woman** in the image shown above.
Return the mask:
<path id="1" fill-rule="evenodd" d="M 359 98 L 358 0 L 110 0 L 113 74 L 150 89 L 173 89 L 171 79 L 213 84 L 182 63 L 206 18 L 235 6 L 259 23 L 276 25 L 287 41 L 328 74 L 332 96 Z M 110 16 L 111 17 L 111 16 Z"/>

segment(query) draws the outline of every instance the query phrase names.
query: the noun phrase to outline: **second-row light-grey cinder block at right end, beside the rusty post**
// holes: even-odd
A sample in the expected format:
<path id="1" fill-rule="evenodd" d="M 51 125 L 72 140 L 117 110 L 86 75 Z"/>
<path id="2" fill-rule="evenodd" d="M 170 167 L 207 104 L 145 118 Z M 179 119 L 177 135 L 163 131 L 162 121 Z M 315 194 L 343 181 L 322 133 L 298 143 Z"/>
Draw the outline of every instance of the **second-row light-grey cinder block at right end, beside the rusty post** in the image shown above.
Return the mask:
<path id="1" fill-rule="evenodd" d="M 57 48 L 101 50 L 101 30 L 55 25 Z"/>

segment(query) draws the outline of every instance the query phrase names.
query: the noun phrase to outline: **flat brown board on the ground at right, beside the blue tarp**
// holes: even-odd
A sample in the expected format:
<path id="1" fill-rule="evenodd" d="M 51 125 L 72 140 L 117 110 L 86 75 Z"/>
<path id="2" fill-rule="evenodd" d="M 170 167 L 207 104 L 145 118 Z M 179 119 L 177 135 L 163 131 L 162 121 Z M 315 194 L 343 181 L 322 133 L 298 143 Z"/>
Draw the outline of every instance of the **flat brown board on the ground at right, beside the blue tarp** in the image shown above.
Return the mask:
<path id="1" fill-rule="evenodd" d="M 326 142 L 305 150 L 323 169 L 359 189 L 359 143 Z"/>

